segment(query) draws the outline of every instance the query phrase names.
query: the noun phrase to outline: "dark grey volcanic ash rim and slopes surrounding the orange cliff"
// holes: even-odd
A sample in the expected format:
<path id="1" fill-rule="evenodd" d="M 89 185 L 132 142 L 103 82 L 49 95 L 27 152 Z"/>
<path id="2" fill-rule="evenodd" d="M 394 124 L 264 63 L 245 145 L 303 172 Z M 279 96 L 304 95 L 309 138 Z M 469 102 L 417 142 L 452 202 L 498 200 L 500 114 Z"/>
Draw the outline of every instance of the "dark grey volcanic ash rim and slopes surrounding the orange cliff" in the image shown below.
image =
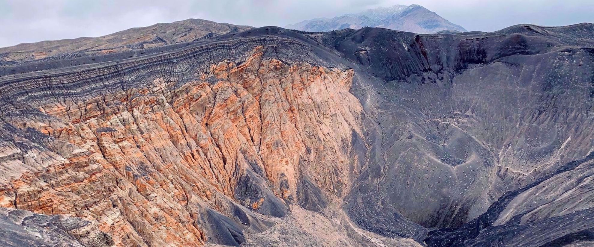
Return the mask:
<path id="1" fill-rule="evenodd" d="M 17 68 L 26 73 L 0 78 L 0 118 L 43 117 L 36 109 L 47 102 L 81 102 L 157 77 L 181 86 L 213 63 L 243 62 L 257 46 L 264 59 L 355 70 L 351 92 L 364 108 L 365 139 L 353 134 L 345 145 L 358 155 L 353 181 L 336 194 L 359 227 L 429 246 L 593 240 L 594 24 L 425 35 L 263 27 L 89 65 L 67 64 L 97 58 L 24 63 Z M 266 198 L 250 209 L 285 216 L 285 204 L 255 174 L 262 175 L 254 169 L 241 179 L 239 203 Z M 331 191 L 307 177 L 297 184 L 299 206 L 328 206 Z M 201 220 L 217 243 L 239 245 L 245 225 L 267 227 L 245 211 L 232 220 L 209 210 Z"/>

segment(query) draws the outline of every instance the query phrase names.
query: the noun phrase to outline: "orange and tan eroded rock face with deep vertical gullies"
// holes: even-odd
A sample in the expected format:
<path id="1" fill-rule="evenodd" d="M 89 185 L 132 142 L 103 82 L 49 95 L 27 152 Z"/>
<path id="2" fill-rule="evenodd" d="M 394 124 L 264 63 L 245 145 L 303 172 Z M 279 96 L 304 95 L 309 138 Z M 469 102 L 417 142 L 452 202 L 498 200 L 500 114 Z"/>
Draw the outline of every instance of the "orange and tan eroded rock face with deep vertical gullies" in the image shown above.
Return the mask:
<path id="1" fill-rule="evenodd" d="M 125 246 L 238 245 L 242 231 L 267 226 L 249 210 L 283 217 L 287 202 L 324 208 L 327 199 L 306 194 L 343 193 L 349 143 L 361 136 L 353 71 L 263 54 L 258 47 L 240 65 L 212 65 L 178 88 L 155 78 L 6 121 L 45 140 L 29 150 L 7 143 L 3 164 L 15 174 L 4 178 L 2 206 L 92 218 Z M 34 172 L 13 169 L 25 167 Z"/>

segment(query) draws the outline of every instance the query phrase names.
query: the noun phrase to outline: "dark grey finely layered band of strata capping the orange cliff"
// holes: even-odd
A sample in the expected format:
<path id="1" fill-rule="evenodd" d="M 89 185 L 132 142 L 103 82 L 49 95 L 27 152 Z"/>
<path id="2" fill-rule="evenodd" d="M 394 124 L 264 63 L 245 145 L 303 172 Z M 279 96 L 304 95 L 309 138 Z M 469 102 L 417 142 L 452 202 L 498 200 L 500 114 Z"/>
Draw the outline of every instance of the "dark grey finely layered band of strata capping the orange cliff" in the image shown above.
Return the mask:
<path id="1" fill-rule="evenodd" d="M 20 102 L 27 102 L 28 107 L 34 108 L 48 100 L 86 100 L 110 92 L 146 86 L 140 84 L 150 83 L 157 77 L 168 78 L 182 85 L 195 79 L 196 72 L 207 70 L 211 63 L 223 60 L 242 62 L 240 57 L 256 46 L 280 46 L 279 53 L 268 54 L 279 59 L 312 60 L 307 57 L 308 48 L 299 41 L 254 37 L 190 46 L 139 59 L 4 76 L 0 81 L 0 101 L 4 102 L 0 105 L 0 113 L 15 113 L 17 109 L 12 108 L 23 107 Z"/>

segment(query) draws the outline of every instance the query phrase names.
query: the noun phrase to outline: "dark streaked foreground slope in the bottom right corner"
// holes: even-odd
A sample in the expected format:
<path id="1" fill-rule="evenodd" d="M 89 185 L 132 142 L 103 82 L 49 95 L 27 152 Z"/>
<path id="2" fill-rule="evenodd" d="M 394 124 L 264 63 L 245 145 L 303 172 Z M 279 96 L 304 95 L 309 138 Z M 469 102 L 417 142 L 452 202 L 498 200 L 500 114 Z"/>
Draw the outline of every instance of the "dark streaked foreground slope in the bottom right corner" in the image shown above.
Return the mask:
<path id="1" fill-rule="evenodd" d="M 563 208 L 558 212 L 559 207 L 554 200 L 561 200 L 564 205 L 570 205 L 567 194 L 574 194 L 577 197 L 585 196 L 581 203 L 587 205 L 586 201 L 592 198 L 591 179 L 594 175 L 594 153 L 578 161 L 571 161 L 561 166 L 557 171 L 545 177 L 539 178 L 532 184 L 508 191 L 502 195 L 489 209 L 477 219 L 472 220 L 459 229 L 443 229 L 429 232 L 425 242 L 429 246 L 565 246 L 570 243 L 588 242 L 594 240 L 594 209 L 593 208 Z M 571 177 L 571 178 L 569 178 Z M 577 181 L 577 182 L 576 182 Z M 576 188 L 586 187 L 586 193 L 580 194 L 576 191 L 565 190 L 565 198 L 549 199 L 548 202 L 532 206 L 532 210 L 557 211 L 545 217 L 532 217 L 526 219 L 534 211 L 523 211 L 507 219 L 506 211 L 523 210 L 525 207 L 515 206 L 516 201 L 527 201 L 526 198 L 535 197 L 531 191 L 534 190 L 555 190 L 563 184 L 579 184 Z M 538 195 L 536 196 L 538 197 Z M 529 200 L 529 199 L 528 199 Z M 571 200 L 571 199 L 570 199 Z M 534 202 L 532 202 L 534 203 Z M 502 221 L 503 219 L 503 221 Z M 526 236 L 539 236 L 539 238 L 526 238 Z"/>

